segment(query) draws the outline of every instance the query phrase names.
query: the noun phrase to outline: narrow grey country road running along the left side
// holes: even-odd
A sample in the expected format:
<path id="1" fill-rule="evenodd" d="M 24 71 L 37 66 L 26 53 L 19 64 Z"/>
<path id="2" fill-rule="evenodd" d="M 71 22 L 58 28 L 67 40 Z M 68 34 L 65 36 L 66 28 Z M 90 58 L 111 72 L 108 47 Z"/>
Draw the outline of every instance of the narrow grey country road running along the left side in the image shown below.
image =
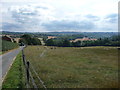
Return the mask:
<path id="1" fill-rule="evenodd" d="M 0 63 L 0 67 L 2 67 L 2 72 L 0 72 L 0 75 L 2 75 L 2 79 L 4 79 L 10 65 L 13 63 L 13 60 L 22 49 L 23 47 L 19 47 L 18 49 L 15 49 L 0 56 L 0 61 L 2 61 L 2 63 Z"/>

